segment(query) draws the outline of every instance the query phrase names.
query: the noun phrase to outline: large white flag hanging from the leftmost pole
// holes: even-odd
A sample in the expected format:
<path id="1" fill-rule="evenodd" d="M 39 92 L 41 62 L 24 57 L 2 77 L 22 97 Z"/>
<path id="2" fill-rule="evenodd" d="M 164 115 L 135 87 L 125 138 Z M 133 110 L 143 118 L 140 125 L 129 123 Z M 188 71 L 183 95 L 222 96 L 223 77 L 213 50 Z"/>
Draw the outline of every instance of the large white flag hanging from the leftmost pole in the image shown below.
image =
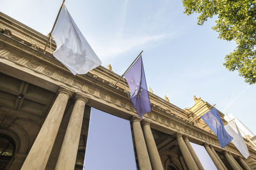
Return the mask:
<path id="1" fill-rule="evenodd" d="M 101 61 L 84 38 L 63 4 L 60 16 L 52 31 L 57 48 L 53 53 L 74 75 L 86 74 L 100 66 Z"/>

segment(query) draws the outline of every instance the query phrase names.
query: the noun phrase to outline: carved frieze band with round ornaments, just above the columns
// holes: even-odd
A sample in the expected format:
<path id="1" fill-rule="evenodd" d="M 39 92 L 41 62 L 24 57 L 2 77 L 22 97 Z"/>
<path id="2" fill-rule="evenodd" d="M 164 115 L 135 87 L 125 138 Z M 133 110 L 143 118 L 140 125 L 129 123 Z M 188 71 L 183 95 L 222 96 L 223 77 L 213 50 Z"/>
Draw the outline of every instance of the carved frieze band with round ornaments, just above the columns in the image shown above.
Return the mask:
<path id="1" fill-rule="evenodd" d="M 15 62 L 16 64 L 19 64 L 20 66 L 28 67 L 29 69 L 32 69 L 36 72 L 41 72 L 41 74 L 44 74 L 45 76 L 49 76 L 50 78 L 54 80 L 61 81 L 69 86 L 75 87 L 78 90 L 82 90 L 83 92 L 88 92 L 89 94 L 92 94 L 95 97 L 98 97 L 99 99 L 104 99 L 104 101 L 107 101 L 109 103 L 113 103 L 118 107 L 125 108 L 127 111 L 133 111 L 135 113 L 135 110 L 129 101 L 129 99 L 121 99 L 116 96 L 113 96 L 111 94 L 108 94 L 106 92 L 102 92 L 100 89 L 97 89 L 96 87 L 93 87 L 92 85 L 83 84 L 81 81 L 76 80 L 76 78 L 65 76 L 64 74 L 59 73 L 58 71 L 54 71 L 52 67 L 44 66 L 43 64 L 36 64 L 33 62 L 30 62 L 25 57 L 19 57 L 15 55 L 14 53 L 8 52 L 7 50 L 0 50 L 0 56 L 4 59 L 10 60 L 12 62 Z M 12 56 L 12 57 L 10 57 Z M 129 101 L 129 102 L 128 102 Z M 158 106 L 157 104 L 152 104 L 153 107 L 158 108 L 159 110 L 168 111 L 170 115 L 175 115 L 175 117 L 178 117 L 177 114 L 173 114 L 171 110 L 168 110 L 166 108 L 163 108 L 161 106 Z M 218 141 L 213 138 L 210 134 L 210 136 L 206 136 L 200 132 L 200 130 L 195 130 L 189 127 L 188 125 L 185 125 L 183 123 L 177 122 L 176 120 L 173 120 L 171 117 L 167 117 L 165 115 L 160 115 L 157 111 L 152 111 L 150 113 L 147 113 L 145 117 L 149 118 L 153 123 L 166 127 L 168 129 L 171 129 L 175 132 L 182 132 L 184 134 L 187 134 L 188 136 L 191 136 L 196 139 L 200 139 L 204 142 L 211 143 L 213 146 L 220 147 L 220 144 Z M 184 119 L 180 117 L 180 121 Z M 8 126 L 8 123 L 5 122 L 11 122 L 12 124 L 13 120 L 6 118 L 6 120 L 2 121 L 1 124 Z M 203 130 L 202 130 L 203 131 Z M 208 135 L 208 134 L 207 134 Z M 236 152 L 236 150 L 234 150 Z M 239 153 L 237 153 L 239 154 Z"/>

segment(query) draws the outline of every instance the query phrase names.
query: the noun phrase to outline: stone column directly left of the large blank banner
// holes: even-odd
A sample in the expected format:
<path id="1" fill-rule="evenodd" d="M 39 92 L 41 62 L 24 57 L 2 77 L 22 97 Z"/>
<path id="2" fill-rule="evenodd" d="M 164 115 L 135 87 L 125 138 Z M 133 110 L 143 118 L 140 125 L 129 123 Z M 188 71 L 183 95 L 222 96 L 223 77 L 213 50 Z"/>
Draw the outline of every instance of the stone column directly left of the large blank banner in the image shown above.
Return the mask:
<path id="1" fill-rule="evenodd" d="M 55 167 L 56 170 L 74 169 L 76 165 L 77 149 L 84 116 L 84 106 L 88 99 L 78 94 L 75 99 L 76 103 L 72 110 L 67 131 L 61 145 L 60 154 Z"/>

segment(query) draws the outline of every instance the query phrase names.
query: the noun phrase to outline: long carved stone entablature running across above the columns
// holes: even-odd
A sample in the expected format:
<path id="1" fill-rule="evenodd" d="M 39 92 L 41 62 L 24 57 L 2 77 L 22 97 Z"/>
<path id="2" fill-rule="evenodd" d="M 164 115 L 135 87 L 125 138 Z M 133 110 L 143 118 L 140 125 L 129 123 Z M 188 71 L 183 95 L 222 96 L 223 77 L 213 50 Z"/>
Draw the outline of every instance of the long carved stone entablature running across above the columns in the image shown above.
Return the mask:
<path id="1" fill-rule="evenodd" d="M 13 28 L 9 27 L 9 29 Z M 18 33 L 15 32 L 15 34 Z M 29 39 L 28 35 L 26 37 Z M 26 39 L 26 37 L 24 34 L 20 34 L 21 39 Z M 35 38 L 33 41 L 41 42 L 42 44 L 46 43 L 45 36 L 41 39 Z M 40 46 L 42 47 L 42 45 Z M 24 81 L 33 81 L 29 80 L 29 78 L 36 78 L 41 87 L 52 92 L 56 92 L 60 86 L 79 92 L 84 96 L 90 97 L 89 106 L 112 113 L 118 117 L 129 120 L 132 116 L 137 115 L 127 96 L 127 90 L 125 89 L 127 83 L 120 81 L 117 87 L 113 87 L 113 83 L 120 76 L 105 67 L 99 66 L 88 74 L 74 76 L 53 57 L 45 55 L 40 50 L 31 48 L 31 46 L 4 34 L 0 34 L 0 66 L 3 66 L 0 67 L 1 72 L 19 76 L 18 78 Z M 18 72 L 19 74 L 17 74 Z M 29 76 L 29 78 L 26 76 Z M 33 83 L 36 82 L 34 81 Z M 161 129 L 162 132 L 171 135 L 176 132 L 182 132 L 182 134 L 198 142 L 209 143 L 216 148 L 220 148 L 216 136 L 189 123 L 189 113 L 164 101 L 164 99 L 151 92 L 149 92 L 149 96 L 152 112 L 147 113 L 145 119 L 152 122 L 152 128 Z M 209 108 L 211 105 L 207 103 L 202 105 L 202 107 L 205 106 Z M 232 144 L 226 146 L 224 150 L 241 155 Z M 254 150 L 250 149 L 250 153 L 252 153 L 252 157 L 256 158 Z"/>

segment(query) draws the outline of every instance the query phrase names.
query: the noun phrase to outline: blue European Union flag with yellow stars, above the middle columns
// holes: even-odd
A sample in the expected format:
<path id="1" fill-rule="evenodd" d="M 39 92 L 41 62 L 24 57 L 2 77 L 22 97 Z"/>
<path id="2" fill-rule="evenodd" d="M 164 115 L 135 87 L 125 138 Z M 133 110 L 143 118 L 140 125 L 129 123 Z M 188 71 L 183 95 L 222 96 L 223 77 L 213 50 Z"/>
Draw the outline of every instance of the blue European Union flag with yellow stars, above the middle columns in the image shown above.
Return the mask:
<path id="1" fill-rule="evenodd" d="M 142 118 L 145 113 L 151 111 L 151 106 L 141 55 L 124 76 L 130 87 L 131 102 L 140 118 Z"/>

